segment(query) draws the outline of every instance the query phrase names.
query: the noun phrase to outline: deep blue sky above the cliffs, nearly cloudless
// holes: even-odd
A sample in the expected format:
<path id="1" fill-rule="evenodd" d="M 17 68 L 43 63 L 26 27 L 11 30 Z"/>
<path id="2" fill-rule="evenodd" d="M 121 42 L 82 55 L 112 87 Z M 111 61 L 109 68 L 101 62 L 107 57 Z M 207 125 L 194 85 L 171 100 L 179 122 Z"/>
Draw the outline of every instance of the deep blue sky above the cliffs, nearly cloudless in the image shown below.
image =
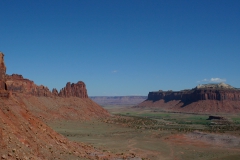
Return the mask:
<path id="1" fill-rule="evenodd" d="M 239 0 L 1 0 L 8 74 L 89 96 L 240 88 Z"/>

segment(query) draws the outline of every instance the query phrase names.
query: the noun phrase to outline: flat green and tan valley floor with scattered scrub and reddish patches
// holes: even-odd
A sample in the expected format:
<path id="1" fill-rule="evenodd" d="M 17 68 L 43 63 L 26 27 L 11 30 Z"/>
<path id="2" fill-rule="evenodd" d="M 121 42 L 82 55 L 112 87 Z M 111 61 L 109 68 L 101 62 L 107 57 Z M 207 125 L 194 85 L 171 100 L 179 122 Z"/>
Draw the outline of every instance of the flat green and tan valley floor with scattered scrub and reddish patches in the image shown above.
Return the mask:
<path id="1" fill-rule="evenodd" d="M 170 113 L 129 106 L 104 106 L 114 116 L 93 121 L 61 121 L 49 125 L 72 141 L 104 152 L 132 153 L 151 160 L 240 159 L 239 115 Z"/>

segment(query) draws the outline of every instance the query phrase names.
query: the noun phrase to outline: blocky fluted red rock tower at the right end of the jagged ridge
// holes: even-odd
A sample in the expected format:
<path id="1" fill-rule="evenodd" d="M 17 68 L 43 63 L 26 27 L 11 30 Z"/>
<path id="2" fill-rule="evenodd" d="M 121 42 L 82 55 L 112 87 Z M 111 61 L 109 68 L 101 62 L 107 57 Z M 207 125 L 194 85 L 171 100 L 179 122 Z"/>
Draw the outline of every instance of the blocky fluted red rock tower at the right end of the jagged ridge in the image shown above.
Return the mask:
<path id="1" fill-rule="evenodd" d="M 72 84 L 68 82 L 66 87 L 61 89 L 58 95 L 60 97 L 88 98 L 86 85 L 82 81 Z"/>

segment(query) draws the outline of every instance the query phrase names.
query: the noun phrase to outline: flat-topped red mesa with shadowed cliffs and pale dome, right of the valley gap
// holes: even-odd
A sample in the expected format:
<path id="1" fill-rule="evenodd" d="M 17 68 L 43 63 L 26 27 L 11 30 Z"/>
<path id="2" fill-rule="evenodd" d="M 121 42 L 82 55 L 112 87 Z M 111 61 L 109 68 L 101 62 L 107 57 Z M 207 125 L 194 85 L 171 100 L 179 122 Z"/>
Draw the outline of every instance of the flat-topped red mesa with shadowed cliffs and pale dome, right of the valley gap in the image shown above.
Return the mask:
<path id="1" fill-rule="evenodd" d="M 203 84 L 181 91 L 149 92 L 136 107 L 194 113 L 240 112 L 240 90 L 225 83 Z"/>

